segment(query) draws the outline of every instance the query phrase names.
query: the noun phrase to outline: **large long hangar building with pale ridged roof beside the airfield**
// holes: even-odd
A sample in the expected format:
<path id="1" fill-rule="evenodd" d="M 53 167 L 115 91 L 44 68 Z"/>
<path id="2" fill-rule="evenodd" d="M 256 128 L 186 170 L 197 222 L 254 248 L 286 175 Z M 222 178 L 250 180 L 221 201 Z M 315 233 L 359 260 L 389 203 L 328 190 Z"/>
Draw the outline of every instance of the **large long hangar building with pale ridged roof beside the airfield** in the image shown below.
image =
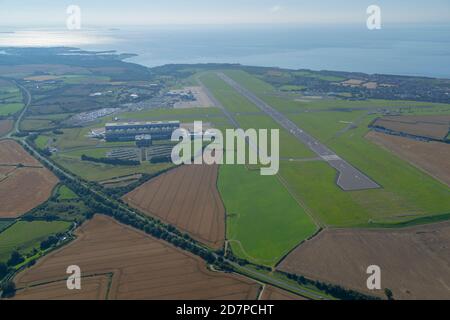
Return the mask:
<path id="1" fill-rule="evenodd" d="M 150 136 L 152 140 L 170 139 L 180 128 L 179 121 L 114 122 L 105 125 L 105 139 L 114 141 L 136 141 L 138 137 Z"/>

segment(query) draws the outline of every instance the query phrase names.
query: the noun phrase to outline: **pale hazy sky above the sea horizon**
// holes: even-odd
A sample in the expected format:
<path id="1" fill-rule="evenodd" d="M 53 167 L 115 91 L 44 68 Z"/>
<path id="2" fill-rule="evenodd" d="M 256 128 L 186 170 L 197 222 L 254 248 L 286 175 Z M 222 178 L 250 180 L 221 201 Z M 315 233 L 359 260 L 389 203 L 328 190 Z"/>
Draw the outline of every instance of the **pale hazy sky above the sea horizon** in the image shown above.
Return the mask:
<path id="1" fill-rule="evenodd" d="M 86 26 L 354 24 L 378 5 L 384 23 L 450 23 L 449 0 L 0 0 L 0 26 L 64 27 L 69 5 Z"/>

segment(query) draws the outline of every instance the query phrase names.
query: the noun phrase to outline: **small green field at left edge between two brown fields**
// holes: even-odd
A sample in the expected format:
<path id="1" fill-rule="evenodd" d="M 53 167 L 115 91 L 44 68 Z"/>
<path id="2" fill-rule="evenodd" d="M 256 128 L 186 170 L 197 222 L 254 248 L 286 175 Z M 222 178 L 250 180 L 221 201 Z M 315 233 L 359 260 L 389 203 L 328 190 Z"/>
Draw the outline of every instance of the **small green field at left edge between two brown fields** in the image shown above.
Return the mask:
<path id="1" fill-rule="evenodd" d="M 30 253 L 34 248 L 39 248 L 40 243 L 50 235 L 64 232 L 70 227 L 65 221 L 19 221 L 12 227 L 0 233 L 0 262 L 9 259 L 14 250 L 22 255 Z"/>

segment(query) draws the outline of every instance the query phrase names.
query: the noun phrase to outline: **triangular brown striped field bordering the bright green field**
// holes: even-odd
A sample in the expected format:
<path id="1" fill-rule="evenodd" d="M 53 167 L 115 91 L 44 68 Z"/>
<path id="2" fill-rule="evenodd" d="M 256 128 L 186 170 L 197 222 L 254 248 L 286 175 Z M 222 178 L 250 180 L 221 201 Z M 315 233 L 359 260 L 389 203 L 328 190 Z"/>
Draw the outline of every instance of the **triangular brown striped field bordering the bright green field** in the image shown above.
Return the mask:
<path id="1" fill-rule="evenodd" d="M 225 209 L 216 186 L 217 170 L 218 166 L 182 166 L 143 184 L 124 200 L 212 248 L 221 248 Z"/>

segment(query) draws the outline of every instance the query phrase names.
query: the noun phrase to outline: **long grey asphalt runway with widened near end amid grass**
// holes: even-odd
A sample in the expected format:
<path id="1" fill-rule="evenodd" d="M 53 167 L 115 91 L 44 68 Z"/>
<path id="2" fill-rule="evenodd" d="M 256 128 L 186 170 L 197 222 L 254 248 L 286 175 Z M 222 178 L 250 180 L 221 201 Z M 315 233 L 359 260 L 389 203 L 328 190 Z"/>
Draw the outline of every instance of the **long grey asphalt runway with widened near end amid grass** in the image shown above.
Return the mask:
<path id="1" fill-rule="evenodd" d="M 345 191 L 356 191 L 365 189 L 377 189 L 380 186 L 363 174 L 361 171 L 353 167 L 347 161 L 339 157 L 331 149 L 320 143 L 310 134 L 300 129 L 295 123 L 289 120 L 285 115 L 275 110 L 273 107 L 258 98 L 255 94 L 242 87 L 239 83 L 229 78 L 223 73 L 217 75 L 234 88 L 241 95 L 250 100 L 264 113 L 274 119 L 280 126 L 285 128 L 293 136 L 295 136 L 302 143 L 307 145 L 314 153 L 325 160 L 330 166 L 338 171 L 337 185 Z"/>

